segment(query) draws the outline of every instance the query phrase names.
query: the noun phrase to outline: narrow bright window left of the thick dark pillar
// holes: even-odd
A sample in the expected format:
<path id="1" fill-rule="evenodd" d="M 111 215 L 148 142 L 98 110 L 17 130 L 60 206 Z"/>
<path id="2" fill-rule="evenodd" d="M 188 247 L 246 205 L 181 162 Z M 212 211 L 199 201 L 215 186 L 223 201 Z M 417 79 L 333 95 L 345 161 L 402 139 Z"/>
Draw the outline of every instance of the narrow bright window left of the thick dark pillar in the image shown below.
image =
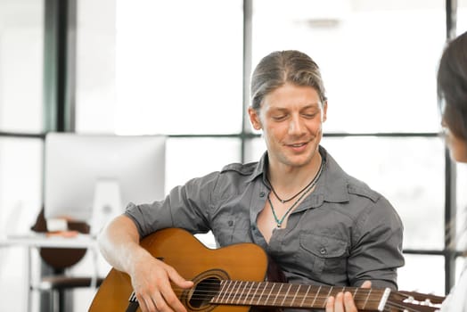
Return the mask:
<path id="1" fill-rule="evenodd" d="M 44 2 L 0 0 L 0 234 L 29 230 L 41 208 L 43 50 Z M 0 297 L 27 295 L 26 264 L 21 249 L 0 252 Z"/>

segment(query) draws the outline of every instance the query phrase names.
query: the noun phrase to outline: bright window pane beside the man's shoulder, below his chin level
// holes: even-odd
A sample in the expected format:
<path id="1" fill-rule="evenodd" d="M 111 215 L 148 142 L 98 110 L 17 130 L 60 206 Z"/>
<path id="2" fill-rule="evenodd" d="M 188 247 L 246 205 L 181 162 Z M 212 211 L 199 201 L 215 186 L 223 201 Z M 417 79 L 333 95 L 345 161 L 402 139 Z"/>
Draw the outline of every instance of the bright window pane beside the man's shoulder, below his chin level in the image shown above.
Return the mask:
<path id="1" fill-rule="evenodd" d="M 438 137 L 325 137 L 323 146 L 397 209 L 404 248 L 443 249 L 444 145 Z"/>

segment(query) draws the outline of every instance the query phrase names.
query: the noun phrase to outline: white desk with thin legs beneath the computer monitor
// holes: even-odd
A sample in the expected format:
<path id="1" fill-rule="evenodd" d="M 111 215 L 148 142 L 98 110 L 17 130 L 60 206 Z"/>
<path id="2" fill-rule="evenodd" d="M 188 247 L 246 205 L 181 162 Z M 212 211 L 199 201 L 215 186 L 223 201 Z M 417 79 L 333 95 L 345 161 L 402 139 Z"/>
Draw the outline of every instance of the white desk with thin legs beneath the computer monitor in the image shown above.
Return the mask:
<path id="1" fill-rule="evenodd" d="M 95 282 L 98 276 L 98 249 L 97 242 L 95 237 L 89 234 L 78 234 L 74 237 L 61 237 L 61 236 L 47 236 L 40 233 L 27 233 L 27 234 L 7 234 L 0 235 L 0 248 L 6 247 L 24 247 L 28 251 L 27 254 L 27 268 L 26 275 L 29 283 L 28 290 L 28 311 L 31 311 L 31 297 L 32 297 L 32 288 L 33 288 L 33 279 L 31 274 L 31 250 L 34 248 L 87 248 L 93 253 L 94 261 L 94 275 L 92 286 L 95 286 Z"/>

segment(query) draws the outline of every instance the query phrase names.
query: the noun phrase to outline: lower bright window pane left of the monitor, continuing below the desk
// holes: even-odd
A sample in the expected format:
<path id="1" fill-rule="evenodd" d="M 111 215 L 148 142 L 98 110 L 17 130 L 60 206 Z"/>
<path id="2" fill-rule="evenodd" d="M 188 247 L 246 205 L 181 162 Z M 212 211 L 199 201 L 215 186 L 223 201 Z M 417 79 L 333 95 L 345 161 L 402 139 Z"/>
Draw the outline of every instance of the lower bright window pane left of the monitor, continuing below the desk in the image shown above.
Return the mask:
<path id="1" fill-rule="evenodd" d="M 42 141 L 0 138 L 0 235 L 24 234 L 41 205 Z M 27 296 L 27 253 L 24 248 L 0 251 L 0 298 Z M 8 311 L 26 311 L 26 300 L 4 300 Z M 10 306 L 9 306 L 10 305 Z"/>

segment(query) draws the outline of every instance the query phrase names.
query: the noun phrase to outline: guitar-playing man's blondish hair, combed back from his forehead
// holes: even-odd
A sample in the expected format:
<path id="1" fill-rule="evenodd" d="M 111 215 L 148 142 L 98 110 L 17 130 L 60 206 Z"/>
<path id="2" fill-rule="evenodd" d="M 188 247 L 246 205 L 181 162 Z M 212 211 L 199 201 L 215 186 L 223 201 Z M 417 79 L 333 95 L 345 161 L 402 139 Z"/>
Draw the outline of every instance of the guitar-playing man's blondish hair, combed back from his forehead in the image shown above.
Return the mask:
<path id="1" fill-rule="evenodd" d="M 259 109 L 266 94 L 280 86 L 312 86 L 321 103 L 326 101 L 323 78 L 318 65 L 306 54 L 296 50 L 275 51 L 266 55 L 251 76 L 251 106 Z"/>

